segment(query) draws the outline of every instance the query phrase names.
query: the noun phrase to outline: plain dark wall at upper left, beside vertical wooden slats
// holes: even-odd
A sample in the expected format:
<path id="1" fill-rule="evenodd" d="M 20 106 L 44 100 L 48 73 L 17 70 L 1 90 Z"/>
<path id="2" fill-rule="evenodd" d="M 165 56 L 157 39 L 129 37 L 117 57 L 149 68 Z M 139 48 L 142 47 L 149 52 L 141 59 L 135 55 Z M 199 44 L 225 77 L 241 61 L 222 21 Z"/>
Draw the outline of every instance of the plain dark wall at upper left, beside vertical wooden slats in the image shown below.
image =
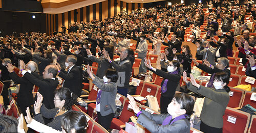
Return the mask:
<path id="1" fill-rule="evenodd" d="M 35 15 L 35 19 L 32 18 Z M 17 33 L 38 32 L 46 33 L 46 14 L 11 12 L 0 9 L 0 36 Z"/>

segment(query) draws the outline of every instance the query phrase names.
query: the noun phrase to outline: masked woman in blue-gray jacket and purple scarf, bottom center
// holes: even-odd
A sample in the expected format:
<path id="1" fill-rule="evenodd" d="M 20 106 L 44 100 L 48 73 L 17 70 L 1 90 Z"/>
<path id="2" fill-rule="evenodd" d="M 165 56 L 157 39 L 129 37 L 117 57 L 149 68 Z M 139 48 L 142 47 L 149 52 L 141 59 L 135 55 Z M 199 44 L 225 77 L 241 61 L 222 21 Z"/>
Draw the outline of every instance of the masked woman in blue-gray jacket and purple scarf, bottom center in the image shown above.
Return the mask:
<path id="1" fill-rule="evenodd" d="M 194 113 L 194 100 L 184 93 L 175 94 L 172 102 L 168 104 L 166 114 L 151 115 L 139 108 L 130 95 L 128 107 L 134 110 L 137 115 L 137 122 L 147 128 L 150 132 L 190 132 L 190 115 Z M 161 125 L 160 125 L 161 124 Z"/>

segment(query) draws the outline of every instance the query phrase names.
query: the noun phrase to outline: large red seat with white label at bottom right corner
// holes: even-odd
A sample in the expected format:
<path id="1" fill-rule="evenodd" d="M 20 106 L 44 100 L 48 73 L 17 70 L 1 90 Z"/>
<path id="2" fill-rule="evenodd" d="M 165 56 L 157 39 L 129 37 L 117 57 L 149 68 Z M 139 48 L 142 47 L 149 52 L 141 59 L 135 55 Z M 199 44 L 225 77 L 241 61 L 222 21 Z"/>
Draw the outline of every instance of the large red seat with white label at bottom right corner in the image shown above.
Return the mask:
<path id="1" fill-rule="evenodd" d="M 236 121 L 234 121 L 234 119 Z M 227 107 L 223 116 L 223 133 L 225 132 L 246 132 L 249 125 L 250 114 L 238 109 Z M 233 120 L 231 123 L 228 120 Z"/>

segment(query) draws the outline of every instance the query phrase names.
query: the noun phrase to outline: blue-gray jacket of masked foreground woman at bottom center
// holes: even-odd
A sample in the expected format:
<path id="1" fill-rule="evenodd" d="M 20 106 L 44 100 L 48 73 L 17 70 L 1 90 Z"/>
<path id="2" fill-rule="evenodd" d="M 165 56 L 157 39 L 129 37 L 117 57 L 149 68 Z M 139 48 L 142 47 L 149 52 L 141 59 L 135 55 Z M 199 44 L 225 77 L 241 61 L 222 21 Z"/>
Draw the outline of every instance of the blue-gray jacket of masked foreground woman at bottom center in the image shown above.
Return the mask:
<path id="1" fill-rule="evenodd" d="M 160 125 L 163 123 L 163 120 L 170 116 L 169 114 L 161 114 L 151 115 L 150 113 L 146 112 L 145 110 L 141 110 L 142 114 L 139 115 L 137 122 L 144 126 L 150 132 L 190 132 L 190 123 L 187 119 L 180 119 L 175 121 L 172 125 Z"/>

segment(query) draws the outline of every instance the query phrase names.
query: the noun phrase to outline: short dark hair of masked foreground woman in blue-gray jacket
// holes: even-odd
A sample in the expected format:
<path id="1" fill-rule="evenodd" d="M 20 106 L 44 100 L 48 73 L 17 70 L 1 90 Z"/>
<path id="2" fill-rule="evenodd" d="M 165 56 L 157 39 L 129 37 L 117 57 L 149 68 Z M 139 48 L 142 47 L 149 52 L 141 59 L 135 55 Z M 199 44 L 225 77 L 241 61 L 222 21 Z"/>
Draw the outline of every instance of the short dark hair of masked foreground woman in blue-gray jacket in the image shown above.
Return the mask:
<path id="1" fill-rule="evenodd" d="M 174 98 L 180 104 L 180 108 L 186 110 L 186 118 L 190 120 L 190 116 L 194 113 L 194 99 L 185 93 L 176 93 Z"/>

